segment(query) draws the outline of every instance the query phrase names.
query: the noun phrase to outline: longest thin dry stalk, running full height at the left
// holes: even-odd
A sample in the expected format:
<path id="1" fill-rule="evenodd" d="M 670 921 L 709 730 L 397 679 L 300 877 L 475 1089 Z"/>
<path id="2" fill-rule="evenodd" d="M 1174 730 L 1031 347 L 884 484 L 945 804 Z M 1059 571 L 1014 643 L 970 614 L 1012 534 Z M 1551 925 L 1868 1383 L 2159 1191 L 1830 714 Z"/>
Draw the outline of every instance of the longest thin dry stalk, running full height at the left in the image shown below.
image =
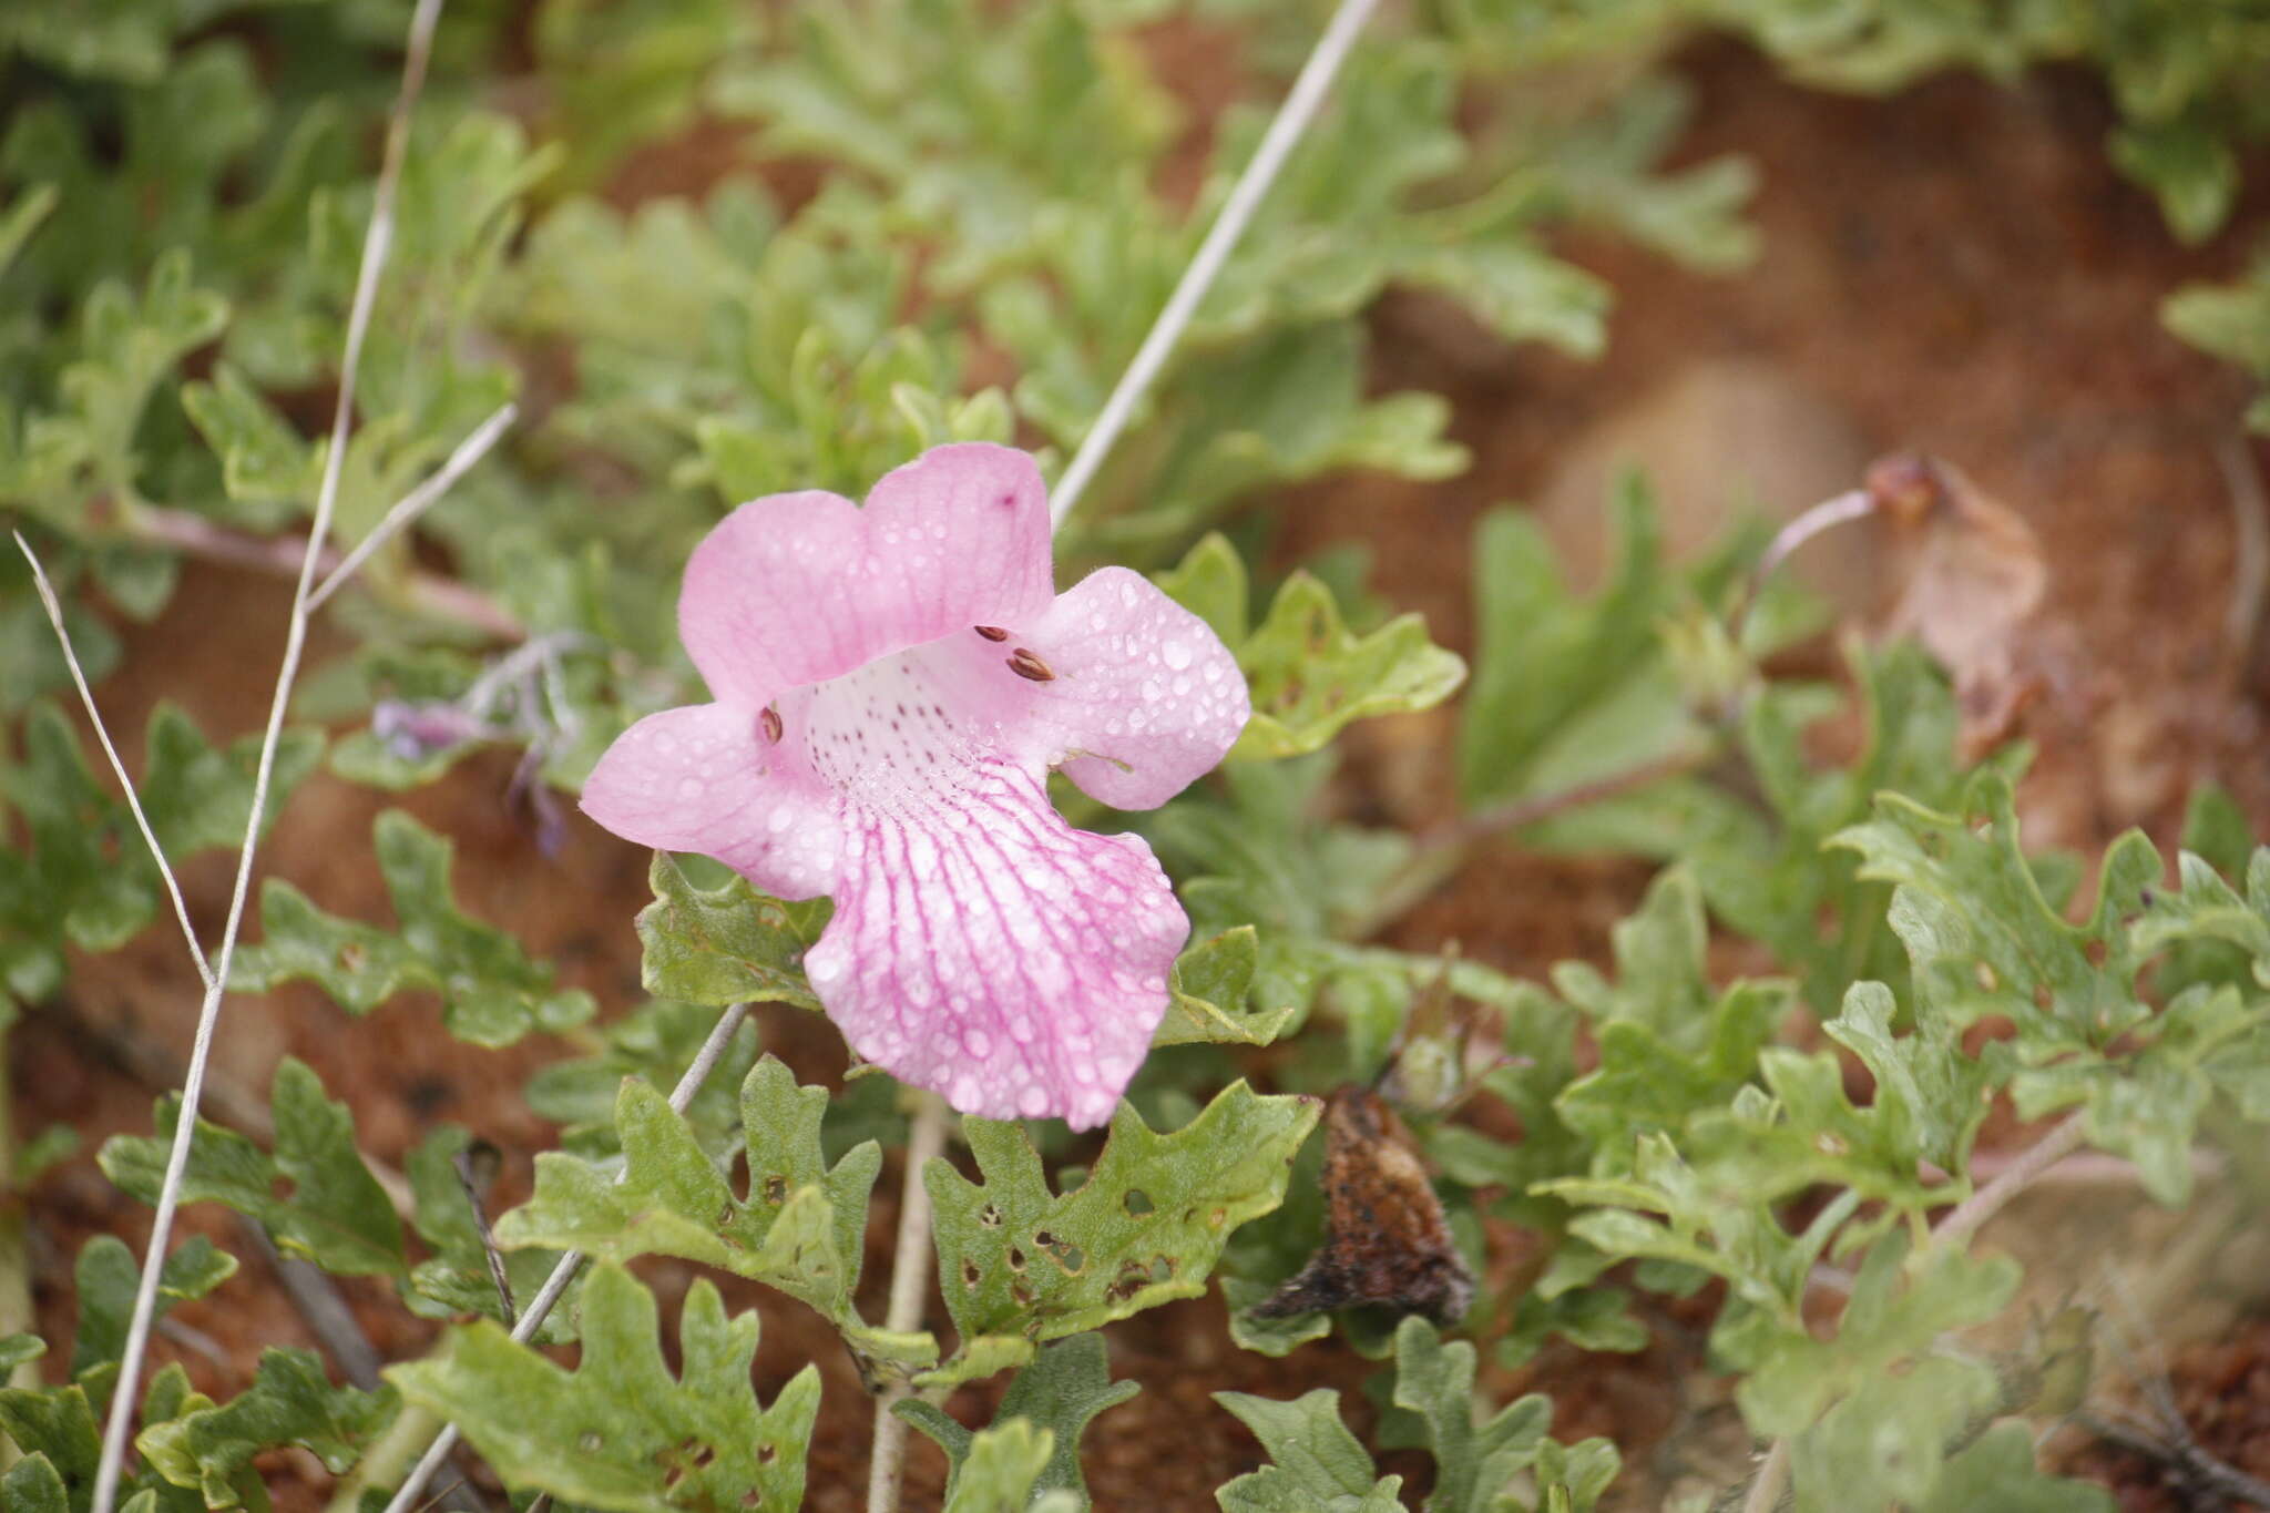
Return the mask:
<path id="1" fill-rule="evenodd" d="M 386 127 L 386 157 L 379 166 L 377 191 L 370 200 L 370 227 L 363 234 L 361 265 L 354 279 L 354 304 L 347 311 L 347 349 L 340 356 L 338 404 L 331 411 L 331 447 L 322 458 L 322 485 L 316 490 L 316 519 L 309 526 L 306 553 L 300 563 L 300 581 L 293 590 L 291 624 L 284 631 L 284 665 L 277 669 L 275 696 L 268 703 L 268 728 L 261 735 L 261 755 L 252 774 L 252 812 L 245 817 L 245 842 L 236 862 L 236 887 L 229 896 L 229 919 L 220 932 L 220 950 L 213 953 L 213 969 L 207 978 L 204 1003 L 197 1009 L 197 1034 L 188 1053 L 188 1075 L 182 1080 L 182 1109 L 175 1123 L 173 1150 L 166 1157 L 166 1184 L 159 1189 L 157 1216 L 150 1220 L 150 1248 L 143 1254 L 141 1286 L 134 1293 L 134 1316 L 127 1325 L 125 1354 L 118 1363 L 118 1384 L 111 1391 L 111 1415 L 102 1431 L 102 1459 L 95 1465 L 95 1495 L 91 1513 L 111 1513 L 118 1502 L 118 1479 L 125 1468 L 127 1440 L 134 1427 L 134 1404 L 141 1397 L 143 1356 L 150 1350 L 150 1322 L 157 1316 L 157 1286 L 166 1266 L 166 1248 L 173 1239 L 173 1216 L 182 1200 L 182 1177 L 188 1170 L 188 1146 L 197 1130 L 197 1105 L 204 1096 L 204 1071 L 213 1055 L 213 1030 L 220 1021 L 220 998 L 229 980 L 229 962 L 236 955 L 236 932 L 243 928 L 245 898 L 252 887 L 252 860 L 259 853 L 261 821 L 268 814 L 268 785 L 275 778 L 277 742 L 284 735 L 284 710 L 291 705 L 291 690 L 300 674 L 300 658 L 306 651 L 309 594 L 316 588 L 318 556 L 331 531 L 331 513 L 338 506 L 338 479 L 347 458 L 347 431 L 354 424 L 354 374 L 363 356 L 363 336 L 370 331 L 370 308 L 379 290 L 379 272 L 386 268 L 386 250 L 393 240 L 395 186 L 402 181 L 402 159 L 409 152 L 409 118 L 424 86 L 427 59 L 434 50 L 434 27 L 440 20 L 440 0 L 418 0 L 411 16 L 406 57 L 402 61 L 402 91 L 395 98 L 393 118 Z"/>

